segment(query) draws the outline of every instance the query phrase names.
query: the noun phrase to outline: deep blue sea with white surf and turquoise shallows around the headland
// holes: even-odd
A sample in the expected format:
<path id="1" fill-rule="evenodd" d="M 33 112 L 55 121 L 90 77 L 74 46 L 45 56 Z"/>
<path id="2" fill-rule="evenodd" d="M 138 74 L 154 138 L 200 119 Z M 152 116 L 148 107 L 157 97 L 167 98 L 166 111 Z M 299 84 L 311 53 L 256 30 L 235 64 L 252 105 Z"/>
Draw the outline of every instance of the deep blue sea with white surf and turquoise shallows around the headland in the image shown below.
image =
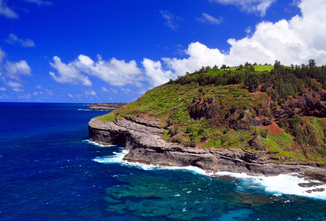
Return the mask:
<path id="1" fill-rule="evenodd" d="M 127 163 L 123 147 L 87 140 L 88 121 L 109 111 L 85 108 L 0 103 L 1 221 L 326 220 L 326 192 L 296 176 Z"/>

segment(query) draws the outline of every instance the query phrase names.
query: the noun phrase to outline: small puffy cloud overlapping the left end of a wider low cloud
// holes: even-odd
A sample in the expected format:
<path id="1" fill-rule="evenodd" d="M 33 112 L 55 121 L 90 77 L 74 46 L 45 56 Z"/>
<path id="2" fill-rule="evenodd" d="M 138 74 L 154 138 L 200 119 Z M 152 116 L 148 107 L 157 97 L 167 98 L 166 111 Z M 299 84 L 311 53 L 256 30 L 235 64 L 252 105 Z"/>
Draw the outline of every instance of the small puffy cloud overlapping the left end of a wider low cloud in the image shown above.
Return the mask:
<path id="1" fill-rule="evenodd" d="M 61 59 L 57 56 L 53 57 L 54 63 L 50 62 L 52 68 L 56 69 L 58 76 L 53 72 L 49 74 L 53 79 L 59 83 L 71 83 L 71 84 L 82 84 L 85 86 L 91 86 L 92 82 L 88 79 L 87 76 L 82 75 L 81 71 L 78 70 L 74 63 L 69 63 L 68 65 L 61 62 Z"/>

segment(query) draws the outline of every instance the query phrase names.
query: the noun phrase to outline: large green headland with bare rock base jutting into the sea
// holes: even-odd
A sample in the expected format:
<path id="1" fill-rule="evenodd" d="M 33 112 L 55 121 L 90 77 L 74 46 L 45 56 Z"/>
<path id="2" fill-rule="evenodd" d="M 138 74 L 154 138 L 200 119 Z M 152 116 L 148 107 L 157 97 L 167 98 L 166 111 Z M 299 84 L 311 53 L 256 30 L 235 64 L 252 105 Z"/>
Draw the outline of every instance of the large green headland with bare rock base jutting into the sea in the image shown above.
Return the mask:
<path id="1" fill-rule="evenodd" d="M 326 176 L 326 67 L 202 67 L 91 119 L 124 160 L 249 175 Z"/>

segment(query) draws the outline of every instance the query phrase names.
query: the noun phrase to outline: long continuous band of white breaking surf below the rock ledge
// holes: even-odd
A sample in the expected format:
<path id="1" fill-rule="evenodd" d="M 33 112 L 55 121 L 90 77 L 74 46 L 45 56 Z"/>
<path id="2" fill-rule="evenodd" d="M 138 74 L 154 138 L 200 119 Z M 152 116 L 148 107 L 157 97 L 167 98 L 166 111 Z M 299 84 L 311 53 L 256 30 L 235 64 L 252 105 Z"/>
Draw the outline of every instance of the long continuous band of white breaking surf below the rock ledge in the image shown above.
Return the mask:
<path id="1" fill-rule="evenodd" d="M 282 196 L 282 194 L 287 195 L 297 195 L 304 197 L 312 197 L 317 199 L 326 200 L 326 191 L 323 192 L 311 192 L 308 193 L 306 190 L 311 190 L 315 188 L 325 188 L 326 184 L 319 185 L 316 187 L 301 187 L 298 184 L 300 183 L 309 183 L 309 181 L 298 177 L 297 173 L 292 174 L 281 174 L 273 177 L 265 177 L 265 176 L 249 176 L 245 173 L 231 173 L 231 172 L 207 172 L 201 168 L 187 166 L 187 167 L 169 167 L 169 166 L 159 166 L 159 165 L 146 165 L 141 163 L 132 163 L 123 160 L 125 154 L 128 153 L 126 150 L 122 150 L 122 152 L 113 152 L 112 156 L 105 157 L 96 157 L 93 159 L 98 163 L 119 163 L 123 166 L 136 167 L 142 170 L 185 170 L 189 171 L 193 174 L 201 174 L 211 177 L 221 177 L 228 176 L 242 180 L 244 183 L 242 186 L 249 186 L 250 188 L 261 188 L 268 193 L 273 194 L 274 196 Z M 315 183 L 321 183 L 320 181 L 310 181 Z"/>

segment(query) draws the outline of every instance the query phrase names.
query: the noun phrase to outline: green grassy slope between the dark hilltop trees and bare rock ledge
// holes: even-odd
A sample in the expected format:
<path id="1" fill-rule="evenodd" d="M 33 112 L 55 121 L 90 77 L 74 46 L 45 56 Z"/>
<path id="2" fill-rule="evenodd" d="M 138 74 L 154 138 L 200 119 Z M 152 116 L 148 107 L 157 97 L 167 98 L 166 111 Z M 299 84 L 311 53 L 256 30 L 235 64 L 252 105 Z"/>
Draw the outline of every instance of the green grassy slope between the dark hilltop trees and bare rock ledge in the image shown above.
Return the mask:
<path id="1" fill-rule="evenodd" d="M 274 66 L 254 68 L 259 76 L 261 72 L 270 72 Z M 212 69 L 205 74 L 221 75 L 228 72 L 237 74 L 236 69 L 235 73 Z M 195 77 L 198 74 L 190 75 Z M 137 101 L 99 118 L 109 121 L 129 115 L 149 120 L 159 119 L 165 129 L 163 139 L 186 147 L 238 148 L 258 152 L 267 150 L 271 151 L 275 162 L 325 163 L 325 119 L 306 116 L 302 111 L 297 114 L 300 113 L 297 108 L 279 116 L 287 103 L 301 102 L 308 95 L 313 97 L 313 94 L 319 99 L 318 93 L 325 90 L 303 86 L 303 92 L 293 92 L 285 98 L 275 95 L 276 92 L 281 93 L 277 89 L 277 81 L 273 82 L 275 85 L 271 83 L 269 92 L 261 91 L 266 83 L 264 79 L 260 79 L 255 92 L 249 92 L 245 80 L 230 85 L 170 82 L 147 91 Z M 322 85 L 317 80 L 314 82 Z M 263 126 L 261 122 L 264 121 L 268 125 Z"/>

